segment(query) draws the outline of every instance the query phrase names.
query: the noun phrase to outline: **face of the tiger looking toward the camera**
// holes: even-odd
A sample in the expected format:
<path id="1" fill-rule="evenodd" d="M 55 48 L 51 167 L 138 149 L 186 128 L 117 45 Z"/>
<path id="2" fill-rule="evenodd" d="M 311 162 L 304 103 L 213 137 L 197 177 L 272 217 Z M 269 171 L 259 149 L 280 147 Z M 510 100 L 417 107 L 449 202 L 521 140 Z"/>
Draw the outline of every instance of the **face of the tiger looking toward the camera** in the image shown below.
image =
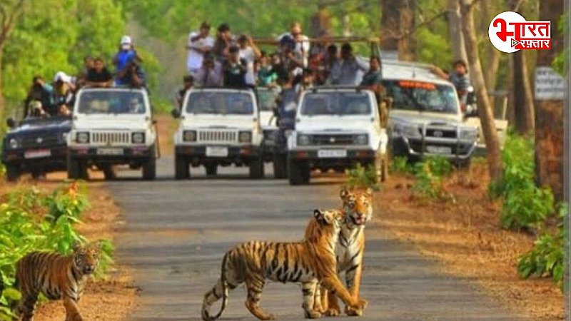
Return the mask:
<path id="1" fill-rule="evenodd" d="M 373 190 L 348 190 L 343 188 L 340 193 L 343 200 L 343 211 L 353 225 L 365 225 L 373 215 Z"/>

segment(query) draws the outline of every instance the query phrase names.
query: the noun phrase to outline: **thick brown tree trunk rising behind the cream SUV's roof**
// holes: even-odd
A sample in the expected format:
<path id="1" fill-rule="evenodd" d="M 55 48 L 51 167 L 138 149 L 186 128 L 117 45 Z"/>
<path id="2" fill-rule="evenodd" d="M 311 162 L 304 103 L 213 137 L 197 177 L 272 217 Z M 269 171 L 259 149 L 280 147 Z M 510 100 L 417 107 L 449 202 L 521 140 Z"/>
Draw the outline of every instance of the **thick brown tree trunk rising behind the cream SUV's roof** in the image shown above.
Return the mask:
<path id="1" fill-rule="evenodd" d="M 380 10 L 381 49 L 398 51 L 400 60 L 414 61 L 416 39 L 409 33 L 415 27 L 416 0 L 380 0 Z"/>

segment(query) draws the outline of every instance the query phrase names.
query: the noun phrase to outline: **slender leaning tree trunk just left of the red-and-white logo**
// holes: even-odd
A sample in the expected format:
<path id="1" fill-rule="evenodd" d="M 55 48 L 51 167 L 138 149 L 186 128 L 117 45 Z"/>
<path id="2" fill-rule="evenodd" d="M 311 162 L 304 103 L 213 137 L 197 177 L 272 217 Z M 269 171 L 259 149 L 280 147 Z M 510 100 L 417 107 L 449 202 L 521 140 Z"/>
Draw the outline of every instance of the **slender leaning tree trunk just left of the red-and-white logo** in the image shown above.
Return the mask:
<path id="1" fill-rule="evenodd" d="M 500 143 L 497 139 L 497 131 L 494 123 L 494 113 L 490 106 L 490 99 L 487 96 L 487 88 L 485 86 L 484 73 L 480 63 L 480 55 L 478 54 L 476 30 L 474 24 L 473 1 L 459 0 L 460 13 L 462 14 L 463 24 L 462 31 L 468 54 L 468 63 L 470 65 L 470 73 L 474 82 L 474 88 L 478 101 L 478 114 L 482 123 L 482 131 L 487 151 L 487 164 L 490 171 L 490 178 L 497 182 L 502 178 L 502 158 L 500 156 Z"/>

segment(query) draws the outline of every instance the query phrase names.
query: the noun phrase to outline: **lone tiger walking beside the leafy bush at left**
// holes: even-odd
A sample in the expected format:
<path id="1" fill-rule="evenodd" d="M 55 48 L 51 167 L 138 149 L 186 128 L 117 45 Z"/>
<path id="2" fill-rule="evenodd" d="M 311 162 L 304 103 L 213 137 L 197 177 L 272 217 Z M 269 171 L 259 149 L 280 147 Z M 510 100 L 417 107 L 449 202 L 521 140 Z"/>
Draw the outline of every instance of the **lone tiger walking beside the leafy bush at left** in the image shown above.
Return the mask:
<path id="1" fill-rule="evenodd" d="M 88 245 L 75 242 L 73 253 L 32 252 L 16 263 L 16 288 L 21 299 L 15 314 L 23 321 L 32 320 L 38 295 L 49 300 L 64 300 L 66 321 L 84 320 L 77 303 L 86 280 L 99 264 L 101 241 Z"/>

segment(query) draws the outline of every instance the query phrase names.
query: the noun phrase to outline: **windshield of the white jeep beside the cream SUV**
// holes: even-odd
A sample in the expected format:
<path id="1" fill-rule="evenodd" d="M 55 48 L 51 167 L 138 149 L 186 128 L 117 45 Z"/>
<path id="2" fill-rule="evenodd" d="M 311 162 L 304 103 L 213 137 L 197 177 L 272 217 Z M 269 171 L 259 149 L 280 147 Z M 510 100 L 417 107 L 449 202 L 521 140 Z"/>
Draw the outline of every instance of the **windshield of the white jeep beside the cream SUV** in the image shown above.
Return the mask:
<path id="1" fill-rule="evenodd" d="M 326 92 L 306 93 L 300 113 L 305 116 L 320 115 L 370 115 L 371 101 L 367 93 Z"/>

